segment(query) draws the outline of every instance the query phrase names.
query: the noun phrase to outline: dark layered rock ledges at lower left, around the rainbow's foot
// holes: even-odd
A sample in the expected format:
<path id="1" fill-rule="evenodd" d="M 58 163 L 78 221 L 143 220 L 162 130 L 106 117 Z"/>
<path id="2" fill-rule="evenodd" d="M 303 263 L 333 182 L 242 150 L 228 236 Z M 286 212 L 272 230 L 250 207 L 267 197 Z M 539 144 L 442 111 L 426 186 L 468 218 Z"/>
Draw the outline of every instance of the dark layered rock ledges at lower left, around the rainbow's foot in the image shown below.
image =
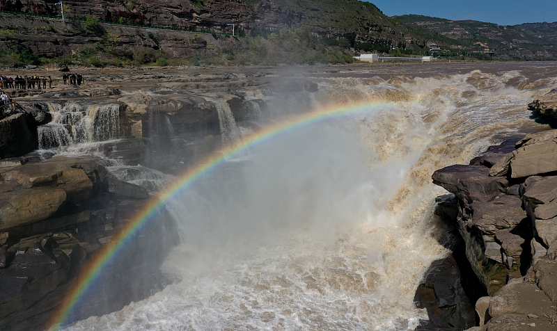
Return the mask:
<path id="1" fill-rule="evenodd" d="M 0 328 L 39 330 L 81 268 L 148 197 L 94 157 L 56 156 L 0 168 Z M 72 318 L 112 312 L 162 286 L 159 264 L 176 243 L 173 226 L 160 213 L 116 257 L 107 273 L 111 281 L 99 282 L 86 312 Z"/>

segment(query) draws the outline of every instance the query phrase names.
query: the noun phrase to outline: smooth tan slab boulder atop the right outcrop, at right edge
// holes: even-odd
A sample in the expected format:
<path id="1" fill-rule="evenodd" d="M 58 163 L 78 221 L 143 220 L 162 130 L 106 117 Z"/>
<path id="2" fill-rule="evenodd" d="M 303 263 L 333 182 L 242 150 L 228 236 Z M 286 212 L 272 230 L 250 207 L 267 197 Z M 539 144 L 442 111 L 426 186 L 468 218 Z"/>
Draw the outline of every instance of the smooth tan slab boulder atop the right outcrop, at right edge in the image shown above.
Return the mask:
<path id="1" fill-rule="evenodd" d="M 557 143 L 524 145 L 510 161 L 511 177 L 524 178 L 557 171 Z"/>

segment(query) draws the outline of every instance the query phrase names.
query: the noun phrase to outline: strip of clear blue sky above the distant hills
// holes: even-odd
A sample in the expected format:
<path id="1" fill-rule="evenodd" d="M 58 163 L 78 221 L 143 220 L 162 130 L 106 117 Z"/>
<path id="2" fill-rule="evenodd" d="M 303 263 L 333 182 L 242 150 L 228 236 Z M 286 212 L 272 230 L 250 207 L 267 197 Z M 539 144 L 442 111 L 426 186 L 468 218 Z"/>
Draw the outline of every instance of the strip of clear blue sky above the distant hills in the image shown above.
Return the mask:
<path id="1" fill-rule="evenodd" d="M 497 24 L 557 22 L 557 0 L 370 0 L 386 15 L 421 14 Z"/>

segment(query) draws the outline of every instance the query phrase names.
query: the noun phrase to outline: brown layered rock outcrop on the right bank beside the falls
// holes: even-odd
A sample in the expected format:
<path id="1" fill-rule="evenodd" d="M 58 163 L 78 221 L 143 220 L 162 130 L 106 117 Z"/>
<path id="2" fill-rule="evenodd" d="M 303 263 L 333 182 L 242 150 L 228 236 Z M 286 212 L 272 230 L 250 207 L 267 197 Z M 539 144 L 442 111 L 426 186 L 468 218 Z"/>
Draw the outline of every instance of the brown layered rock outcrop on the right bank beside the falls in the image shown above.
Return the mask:
<path id="1" fill-rule="evenodd" d="M 488 295 L 476 304 L 480 330 L 556 328 L 556 157 L 557 131 L 544 131 L 432 176 L 454 195 L 448 218 Z"/>

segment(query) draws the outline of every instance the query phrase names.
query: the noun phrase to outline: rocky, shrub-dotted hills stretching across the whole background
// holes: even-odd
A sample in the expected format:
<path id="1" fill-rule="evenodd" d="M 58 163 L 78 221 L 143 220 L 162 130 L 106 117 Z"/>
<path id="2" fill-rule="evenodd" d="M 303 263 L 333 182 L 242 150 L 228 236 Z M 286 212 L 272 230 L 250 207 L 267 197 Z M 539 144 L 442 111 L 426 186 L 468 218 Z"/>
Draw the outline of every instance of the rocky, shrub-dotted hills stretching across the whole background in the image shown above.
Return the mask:
<path id="1" fill-rule="evenodd" d="M 557 58 L 557 23 L 499 26 L 416 15 L 388 17 L 372 3 L 358 0 L 70 0 L 64 1 L 70 22 L 22 16 L 56 17 L 60 6 L 55 3 L 0 0 L 5 14 L 0 17 L 0 45 L 7 49 L 0 63 L 52 58 L 86 65 L 167 58 L 214 64 L 342 63 L 359 51 L 426 55 L 431 44 L 444 49 L 440 55 L 463 58 Z M 236 42 L 219 35 L 233 33 L 232 24 Z"/>

